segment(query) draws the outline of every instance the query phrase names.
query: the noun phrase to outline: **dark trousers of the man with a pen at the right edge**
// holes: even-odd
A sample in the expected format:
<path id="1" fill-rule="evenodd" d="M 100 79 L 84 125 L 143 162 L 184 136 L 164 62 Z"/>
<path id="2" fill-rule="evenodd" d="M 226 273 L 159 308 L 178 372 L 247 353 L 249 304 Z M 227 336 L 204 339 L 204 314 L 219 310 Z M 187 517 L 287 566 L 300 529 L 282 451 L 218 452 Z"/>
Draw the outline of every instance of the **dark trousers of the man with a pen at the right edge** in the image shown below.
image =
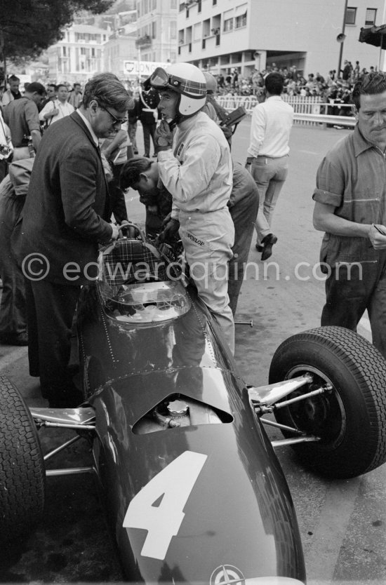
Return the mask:
<path id="1" fill-rule="evenodd" d="M 386 358 L 386 251 L 378 262 L 342 264 L 326 280 L 326 304 L 321 325 L 340 325 L 357 331 L 368 311 L 373 344 Z"/>

